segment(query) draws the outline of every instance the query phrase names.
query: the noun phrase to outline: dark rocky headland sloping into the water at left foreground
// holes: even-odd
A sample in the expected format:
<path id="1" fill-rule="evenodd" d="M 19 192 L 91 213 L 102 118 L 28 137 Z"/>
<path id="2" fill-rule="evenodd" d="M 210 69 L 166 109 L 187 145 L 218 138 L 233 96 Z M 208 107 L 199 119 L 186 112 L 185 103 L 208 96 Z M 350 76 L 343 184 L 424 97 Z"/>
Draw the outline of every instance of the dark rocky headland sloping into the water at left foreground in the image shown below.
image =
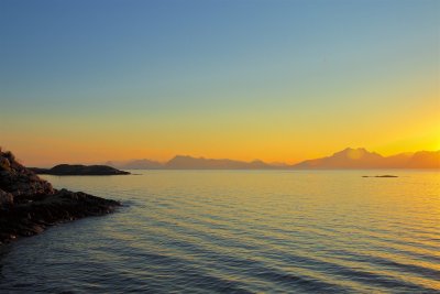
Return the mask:
<path id="1" fill-rule="evenodd" d="M 58 222 L 113 211 L 121 204 L 81 192 L 55 189 L 0 149 L 0 244 Z"/>

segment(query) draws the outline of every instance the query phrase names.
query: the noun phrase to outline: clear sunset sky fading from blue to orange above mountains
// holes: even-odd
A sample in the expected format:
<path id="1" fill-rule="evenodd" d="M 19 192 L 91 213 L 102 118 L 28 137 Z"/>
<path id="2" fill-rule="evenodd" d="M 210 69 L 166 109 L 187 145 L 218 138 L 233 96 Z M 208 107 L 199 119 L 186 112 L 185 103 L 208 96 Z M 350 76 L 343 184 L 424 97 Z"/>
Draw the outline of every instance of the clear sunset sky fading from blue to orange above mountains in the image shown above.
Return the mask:
<path id="1" fill-rule="evenodd" d="M 440 149 L 440 1 L 0 0 L 28 165 Z"/>

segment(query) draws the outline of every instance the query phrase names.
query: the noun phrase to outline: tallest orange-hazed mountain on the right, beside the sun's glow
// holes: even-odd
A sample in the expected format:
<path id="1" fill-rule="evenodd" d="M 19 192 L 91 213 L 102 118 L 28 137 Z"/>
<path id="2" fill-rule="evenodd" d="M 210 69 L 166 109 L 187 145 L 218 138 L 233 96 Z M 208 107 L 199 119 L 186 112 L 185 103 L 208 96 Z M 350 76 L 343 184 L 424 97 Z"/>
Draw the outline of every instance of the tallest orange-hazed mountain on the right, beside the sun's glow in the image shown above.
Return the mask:
<path id="1" fill-rule="evenodd" d="M 385 157 L 363 148 L 348 148 L 328 157 L 304 161 L 292 168 L 440 168 L 440 151 L 402 153 Z"/>

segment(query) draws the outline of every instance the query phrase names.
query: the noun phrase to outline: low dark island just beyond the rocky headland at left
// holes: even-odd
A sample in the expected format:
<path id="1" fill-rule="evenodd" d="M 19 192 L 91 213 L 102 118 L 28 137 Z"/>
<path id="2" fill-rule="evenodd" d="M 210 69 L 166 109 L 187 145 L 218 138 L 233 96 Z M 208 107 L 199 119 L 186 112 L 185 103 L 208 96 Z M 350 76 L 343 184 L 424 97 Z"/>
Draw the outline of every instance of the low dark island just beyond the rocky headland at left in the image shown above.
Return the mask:
<path id="1" fill-rule="evenodd" d="M 129 172 L 120 171 L 108 165 L 80 165 L 58 164 L 52 168 L 30 167 L 36 174 L 46 175 L 129 175 Z"/>

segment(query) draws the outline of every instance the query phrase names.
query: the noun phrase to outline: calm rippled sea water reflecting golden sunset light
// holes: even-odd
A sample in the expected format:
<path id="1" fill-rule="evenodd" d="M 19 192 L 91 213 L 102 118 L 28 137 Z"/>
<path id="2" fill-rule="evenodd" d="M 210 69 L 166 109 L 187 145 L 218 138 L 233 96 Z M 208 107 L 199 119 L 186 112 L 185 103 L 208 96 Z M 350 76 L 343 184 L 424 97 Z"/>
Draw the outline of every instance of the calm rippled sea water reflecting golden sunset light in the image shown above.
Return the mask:
<path id="1" fill-rule="evenodd" d="M 440 293 L 438 172 L 135 173 L 45 176 L 124 207 L 7 247 L 0 292 Z"/>

